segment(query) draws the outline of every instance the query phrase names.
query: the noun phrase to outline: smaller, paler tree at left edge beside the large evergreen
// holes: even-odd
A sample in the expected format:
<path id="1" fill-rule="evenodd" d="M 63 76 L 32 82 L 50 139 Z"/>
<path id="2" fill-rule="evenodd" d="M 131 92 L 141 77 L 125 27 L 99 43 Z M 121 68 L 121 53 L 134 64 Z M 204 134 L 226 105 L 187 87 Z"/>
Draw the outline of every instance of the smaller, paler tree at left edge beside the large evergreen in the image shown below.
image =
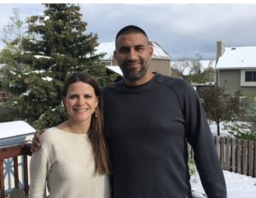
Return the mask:
<path id="1" fill-rule="evenodd" d="M 22 54 L 21 41 L 27 37 L 25 33 L 25 23 L 20 20 L 20 12 L 13 8 L 13 16 L 10 17 L 7 25 L 3 26 L 4 37 L 1 39 L 5 48 L 0 52 L 0 63 L 3 65 L 0 76 L 0 89 L 5 95 L 17 96 L 23 93 L 26 88 L 23 87 L 21 76 L 29 70 L 29 66 L 20 64 L 19 59 Z M 19 110 L 14 97 L 1 103 L 0 122 L 9 122 L 19 119 Z"/>

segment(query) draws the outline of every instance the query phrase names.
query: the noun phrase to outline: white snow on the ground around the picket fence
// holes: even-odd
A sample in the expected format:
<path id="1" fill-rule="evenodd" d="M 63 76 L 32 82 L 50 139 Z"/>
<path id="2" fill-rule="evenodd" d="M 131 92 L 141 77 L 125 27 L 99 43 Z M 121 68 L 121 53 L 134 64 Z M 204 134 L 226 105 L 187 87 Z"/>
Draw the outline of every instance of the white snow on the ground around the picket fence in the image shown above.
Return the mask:
<path id="1" fill-rule="evenodd" d="M 225 123 L 220 124 L 220 135 L 229 135 Z M 210 127 L 213 134 L 217 133 L 217 127 L 212 122 Z M 224 178 L 227 186 L 228 198 L 256 198 L 256 178 L 252 178 L 239 173 L 231 173 L 224 171 Z M 194 198 L 204 198 L 205 191 L 201 186 L 201 180 L 198 173 L 191 176 L 190 179 L 191 188 L 193 190 Z"/>

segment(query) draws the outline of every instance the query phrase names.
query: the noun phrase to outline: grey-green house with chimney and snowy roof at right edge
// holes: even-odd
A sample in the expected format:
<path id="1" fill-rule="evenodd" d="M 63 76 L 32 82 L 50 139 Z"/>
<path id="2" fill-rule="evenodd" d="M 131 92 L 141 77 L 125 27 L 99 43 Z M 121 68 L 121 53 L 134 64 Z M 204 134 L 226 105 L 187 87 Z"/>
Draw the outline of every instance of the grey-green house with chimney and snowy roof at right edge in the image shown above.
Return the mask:
<path id="1" fill-rule="evenodd" d="M 256 96 L 256 46 L 225 48 L 217 42 L 216 83 L 234 95 Z"/>

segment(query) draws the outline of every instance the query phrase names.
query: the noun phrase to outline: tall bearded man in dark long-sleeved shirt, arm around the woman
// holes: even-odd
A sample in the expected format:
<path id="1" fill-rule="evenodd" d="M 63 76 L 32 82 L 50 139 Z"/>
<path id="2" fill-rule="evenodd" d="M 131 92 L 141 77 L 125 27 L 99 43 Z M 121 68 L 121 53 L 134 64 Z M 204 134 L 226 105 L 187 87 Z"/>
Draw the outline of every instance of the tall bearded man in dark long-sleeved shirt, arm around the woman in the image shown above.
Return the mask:
<path id="1" fill-rule="evenodd" d="M 128 25 L 118 32 L 114 57 L 124 80 L 103 90 L 113 198 L 192 197 L 187 142 L 207 197 L 226 198 L 224 175 L 197 94 L 181 79 L 148 71 L 152 54 L 141 28 Z"/>

